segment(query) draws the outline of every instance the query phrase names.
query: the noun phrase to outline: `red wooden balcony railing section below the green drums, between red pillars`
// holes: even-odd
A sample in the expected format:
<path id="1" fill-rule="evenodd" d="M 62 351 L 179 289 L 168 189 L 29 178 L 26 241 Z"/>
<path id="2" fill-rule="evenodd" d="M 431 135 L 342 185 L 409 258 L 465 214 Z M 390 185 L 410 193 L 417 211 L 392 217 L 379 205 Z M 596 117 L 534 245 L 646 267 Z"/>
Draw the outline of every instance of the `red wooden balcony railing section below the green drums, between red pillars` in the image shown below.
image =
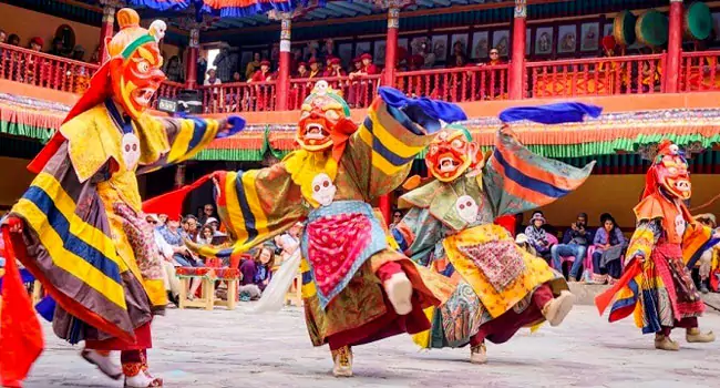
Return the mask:
<path id="1" fill-rule="evenodd" d="M 666 54 L 528 62 L 528 98 L 647 94 L 665 91 Z"/>

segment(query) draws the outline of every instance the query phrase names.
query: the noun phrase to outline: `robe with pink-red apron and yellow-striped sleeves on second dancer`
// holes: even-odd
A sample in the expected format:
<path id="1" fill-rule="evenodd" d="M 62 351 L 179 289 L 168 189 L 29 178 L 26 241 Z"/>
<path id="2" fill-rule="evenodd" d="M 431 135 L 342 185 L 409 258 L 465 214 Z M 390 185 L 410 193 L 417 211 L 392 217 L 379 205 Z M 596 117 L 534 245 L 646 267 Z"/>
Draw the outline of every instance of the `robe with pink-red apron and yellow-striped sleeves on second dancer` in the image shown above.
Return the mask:
<path id="1" fill-rule="evenodd" d="M 412 262 L 389 248 L 384 222 L 369 203 L 402 183 L 432 139 L 379 96 L 339 162 L 329 151 L 298 150 L 271 167 L 218 173 L 218 213 L 236 244 L 200 253 L 244 252 L 307 218 L 302 294 L 313 345 L 382 317 L 387 305 L 376 276 L 380 265 L 399 261 L 413 285 L 423 280 Z M 320 206 L 328 197 L 332 203 Z M 336 244 L 330 247 L 328 241 Z M 422 288 L 423 307 L 436 304 L 434 294 Z"/>

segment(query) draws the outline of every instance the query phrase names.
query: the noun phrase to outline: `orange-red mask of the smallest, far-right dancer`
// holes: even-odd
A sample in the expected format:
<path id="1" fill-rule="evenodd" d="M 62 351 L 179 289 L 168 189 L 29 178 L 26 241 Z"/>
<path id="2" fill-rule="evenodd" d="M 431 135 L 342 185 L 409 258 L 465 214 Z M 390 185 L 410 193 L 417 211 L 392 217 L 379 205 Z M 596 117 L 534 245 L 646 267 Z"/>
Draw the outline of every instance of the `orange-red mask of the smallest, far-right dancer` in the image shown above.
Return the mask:
<path id="1" fill-rule="evenodd" d="M 648 184 L 659 185 L 665 193 L 672 197 L 690 198 L 691 186 L 688 162 L 676 144 L 668 140 L 662 141 L 655 163 L 650 169 L 655 170 L 656 182 L 648 182 Z"/>

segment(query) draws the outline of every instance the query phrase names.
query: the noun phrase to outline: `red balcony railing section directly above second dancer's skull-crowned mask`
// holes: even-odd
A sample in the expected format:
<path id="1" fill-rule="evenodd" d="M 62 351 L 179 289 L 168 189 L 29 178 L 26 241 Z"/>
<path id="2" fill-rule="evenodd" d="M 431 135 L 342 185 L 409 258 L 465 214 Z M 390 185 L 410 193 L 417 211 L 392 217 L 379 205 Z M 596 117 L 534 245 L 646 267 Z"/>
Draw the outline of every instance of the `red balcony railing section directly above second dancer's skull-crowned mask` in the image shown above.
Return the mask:
<path id="1" fill-rule="evenodd" d="M 288 109 L 299 110 L 302 101 L 310 95 L 315 84 L 325 80 L 330 88 L 342 93 L 350 108 L 368 108 L 378 93 L 380 75 L 366 75 L 350 79 L 349 76 L 325 76 L 317 79 L 291 79 L 288 96 Z"/>

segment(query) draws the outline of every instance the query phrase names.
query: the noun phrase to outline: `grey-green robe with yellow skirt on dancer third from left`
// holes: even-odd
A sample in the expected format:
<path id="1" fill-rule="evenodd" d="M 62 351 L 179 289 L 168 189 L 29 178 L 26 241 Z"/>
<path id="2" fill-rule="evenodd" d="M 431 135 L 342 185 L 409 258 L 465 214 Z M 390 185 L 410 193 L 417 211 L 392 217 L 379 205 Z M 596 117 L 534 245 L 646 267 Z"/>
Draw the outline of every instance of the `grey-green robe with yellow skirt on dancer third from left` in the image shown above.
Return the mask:
<path id="1" fill-rule="evenodd" d="M 400 207 L 410 208 L 397 227 L 400 246 L 415 263 L 432 266 L 457 285 L 434 312 L 432 333 L 415 341 L 423 347 L 466 345 L 480 325 L 511 308 L 525 308 L 544 283 L 551 282 L 556 294 L 567 289 L 562 275 L 520 249 L 493 221 L 566 195 L 592 169 L 593 164 L 580 170 L 542 157 L 498 134 L 482 173 L 466 173 L 449 183 L 433 181 L 400 197 Z"/>

